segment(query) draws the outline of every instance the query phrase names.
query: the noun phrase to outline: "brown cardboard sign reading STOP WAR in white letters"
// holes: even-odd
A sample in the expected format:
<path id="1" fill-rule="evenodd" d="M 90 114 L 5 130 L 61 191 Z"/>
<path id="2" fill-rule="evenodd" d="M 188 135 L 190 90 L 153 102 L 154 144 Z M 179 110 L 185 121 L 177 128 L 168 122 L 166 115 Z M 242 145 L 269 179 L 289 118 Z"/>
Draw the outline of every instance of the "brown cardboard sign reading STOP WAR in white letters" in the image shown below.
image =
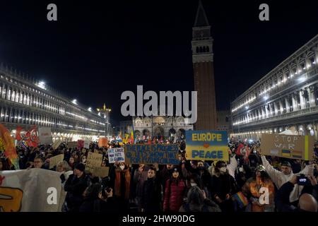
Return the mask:
<path id="1" fill-rule="evenodd" d="M 314 136 L 261 134 L 261 153 L 300 160 L 312 160 Z"/>

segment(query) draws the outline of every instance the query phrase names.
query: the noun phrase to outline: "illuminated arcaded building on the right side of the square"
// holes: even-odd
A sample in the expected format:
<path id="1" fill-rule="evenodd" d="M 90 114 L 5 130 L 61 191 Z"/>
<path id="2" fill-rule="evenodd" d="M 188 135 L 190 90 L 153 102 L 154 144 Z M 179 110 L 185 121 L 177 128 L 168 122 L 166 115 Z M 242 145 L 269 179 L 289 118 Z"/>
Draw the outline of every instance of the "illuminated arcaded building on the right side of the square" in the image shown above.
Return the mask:
<path id="1" fill-rule="evenodd" d="M 288 129 L 317 140 L 317 65 L 318 35 L 231 103 L 232 136 L 259 139 Z"/>

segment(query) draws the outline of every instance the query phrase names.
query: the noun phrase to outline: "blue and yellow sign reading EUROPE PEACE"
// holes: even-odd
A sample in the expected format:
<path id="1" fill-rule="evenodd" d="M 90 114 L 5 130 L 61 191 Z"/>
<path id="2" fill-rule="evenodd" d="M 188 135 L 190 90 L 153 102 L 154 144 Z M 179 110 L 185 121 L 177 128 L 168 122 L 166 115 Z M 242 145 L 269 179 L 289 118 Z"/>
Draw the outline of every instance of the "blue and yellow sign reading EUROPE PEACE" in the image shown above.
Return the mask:
<path id="1" fill-rule="evenodd" d="M 226 131 L 186 131 L 187 160 L 228 161 Z"/>

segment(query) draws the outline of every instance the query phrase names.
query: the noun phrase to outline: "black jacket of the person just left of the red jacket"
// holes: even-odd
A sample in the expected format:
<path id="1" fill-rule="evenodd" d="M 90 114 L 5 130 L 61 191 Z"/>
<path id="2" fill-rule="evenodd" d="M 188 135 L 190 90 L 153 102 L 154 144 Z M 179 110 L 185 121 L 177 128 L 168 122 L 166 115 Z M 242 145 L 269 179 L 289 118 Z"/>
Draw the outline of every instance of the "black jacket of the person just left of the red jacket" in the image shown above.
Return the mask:
<path id="1" fill-rule="evenodd" d="M 143 183 L 141 208 L 146 213 L 158 213 L 161 202 L 161 185 L 155 178 L 148 178 Z"/>

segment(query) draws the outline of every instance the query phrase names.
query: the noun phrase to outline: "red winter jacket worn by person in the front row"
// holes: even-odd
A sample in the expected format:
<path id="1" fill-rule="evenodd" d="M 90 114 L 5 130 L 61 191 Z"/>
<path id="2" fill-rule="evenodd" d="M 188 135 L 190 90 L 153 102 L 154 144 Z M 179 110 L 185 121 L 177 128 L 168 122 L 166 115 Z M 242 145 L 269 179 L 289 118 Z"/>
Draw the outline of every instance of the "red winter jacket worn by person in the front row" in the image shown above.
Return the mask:
<path id="1" fill-rule="evenodd" d="M 172 181 L 170 182 L 170 180 Z M 179 212 L 185 188 L 183 179 L 167 179 L 165 183 L 165 200 L 163 201 L 164 211 Z"/>

